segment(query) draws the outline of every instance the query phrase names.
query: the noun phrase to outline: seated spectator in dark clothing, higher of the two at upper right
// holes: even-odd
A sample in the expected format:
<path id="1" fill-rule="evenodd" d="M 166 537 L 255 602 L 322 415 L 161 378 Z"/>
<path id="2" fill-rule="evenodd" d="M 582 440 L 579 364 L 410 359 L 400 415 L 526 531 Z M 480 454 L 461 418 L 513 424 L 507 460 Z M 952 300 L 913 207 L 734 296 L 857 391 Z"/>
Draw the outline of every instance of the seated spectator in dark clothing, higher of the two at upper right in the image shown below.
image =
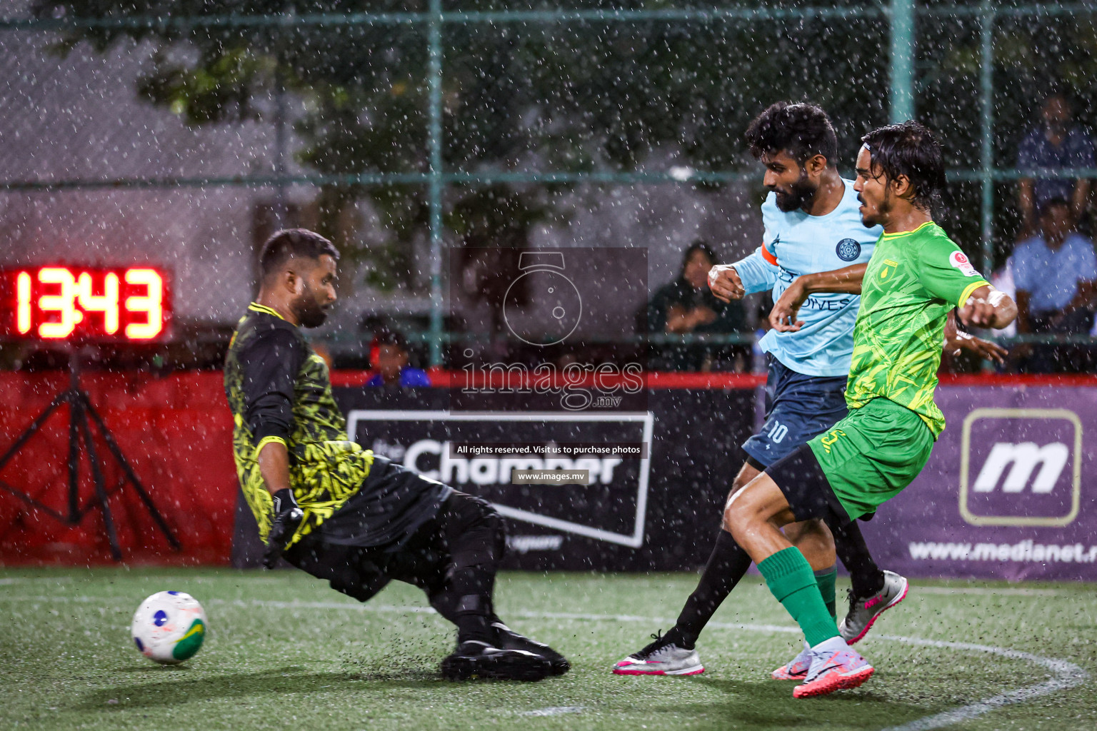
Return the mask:
<path id="1" fill-rule="evenodd" d="M 1089 135 L 1073 124 L 1071 103 L 1062 93 L 1049 95 L 1040 111 L 1041 124 L 1021 140 L 1017 150 L 1017 167 L 1021 170 L 1044 168 L 1093 168 L 1094 144 Z M 1036 214 L 1052 198 L 1070 202 L 1074 220 L 1081 219 L 1089 197 L 1089 181 L 1085 178 L 1022 178 L 1018 186 L 1021 230 L 1018 240 L 1037 231 Z"/>

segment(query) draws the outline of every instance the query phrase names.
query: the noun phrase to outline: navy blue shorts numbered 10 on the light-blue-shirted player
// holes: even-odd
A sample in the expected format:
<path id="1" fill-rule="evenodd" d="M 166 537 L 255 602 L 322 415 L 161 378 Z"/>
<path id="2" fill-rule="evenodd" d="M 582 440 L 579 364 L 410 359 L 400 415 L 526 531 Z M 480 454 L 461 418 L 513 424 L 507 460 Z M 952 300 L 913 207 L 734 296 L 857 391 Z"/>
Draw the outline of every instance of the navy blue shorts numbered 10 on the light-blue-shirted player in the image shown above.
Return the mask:
<path id="1" fill-rule="evenodd" d="M 766 423 L 743 443 L 748 461 L 759 469 L 792 454 L 816 434 L 846 416 L 846 376 L 805 376 L 766 354 Z"/>

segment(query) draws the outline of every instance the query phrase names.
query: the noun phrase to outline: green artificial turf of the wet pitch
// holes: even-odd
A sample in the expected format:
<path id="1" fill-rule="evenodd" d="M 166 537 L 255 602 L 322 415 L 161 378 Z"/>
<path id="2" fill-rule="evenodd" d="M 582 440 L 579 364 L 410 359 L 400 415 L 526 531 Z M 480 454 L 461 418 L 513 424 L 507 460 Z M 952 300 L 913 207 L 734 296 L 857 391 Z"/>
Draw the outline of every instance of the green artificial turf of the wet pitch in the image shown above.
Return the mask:
<path id="1" fill-rule="evenodd" d="M 1063 677 L 1081 684 L 948 728 L 1097 728 L 1092 585 L 916 582 L 858 646 L 877 667 L 871 681 L 794 700 L 794 684 L 769 672 L 801 638 L 779 631 L 791 620 L 747 578 L 699 642 L 703 675 L 612 675 L 614 661 L 670 626 L 695 581 L 502 574 L 501 617 L 567 654 L 572 672 L 448 683 L 437 669 L 452 629 L 411 586 L 393 584 L 363 605 L 297 571 L 0 569 L 0 728 L 884 729 Z M 161 590 L 193 594 L 208 617 L 201 652 L 174 667 L 143 658 L 128 633 L 138 603 Z"/>

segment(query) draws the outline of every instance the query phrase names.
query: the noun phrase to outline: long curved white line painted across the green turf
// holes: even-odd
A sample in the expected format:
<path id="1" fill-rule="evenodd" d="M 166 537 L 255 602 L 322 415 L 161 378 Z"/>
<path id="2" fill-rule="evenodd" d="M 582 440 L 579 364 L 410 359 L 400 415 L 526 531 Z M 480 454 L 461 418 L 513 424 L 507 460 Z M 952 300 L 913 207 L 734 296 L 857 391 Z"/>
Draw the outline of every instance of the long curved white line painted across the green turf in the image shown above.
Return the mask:
<path id="1" fill-rule="evenodd" d="M 78 603 L 94 603 L 102 606 L 109 602 L 117 602 L 118 597 L 97 597 L 97 596 L 0 596 L 0 602 L 78 602 Z M 378 614 L 436 614 L 430 607 L 409 607 L 409 606 L 393 606 L 389 604 L 367 604 L 367 603 L 350 603 L 350 602 L 278 602 L 270 599 L 207 599 L 206 604 L 211 605 L 223 605 L 223 606 L 237 606 L 237 607 L 249 607 L 249 606 L 262 606 L 272 607 L 276 609 L 344 609 L 351 612 L 373 612 Z M 658 617 L 641 617 L 636 615 L 604 615 L 604 614 L 580 614 L 570 612 L 511 612 L 510 616 L 522 617 L 525 619 L 573 619 L 580 621 L 613 621 L 613 623 L 645 623 L 645 624 L 674 624 L 672 619 L 658 618 Z M 754 632 L 789 632 L 799 633 L 800 628 L 790 625 L 748 625 L 748 624 L 737 624 L 737 623 L 722 623 L 722 621 L 710 621 L 709 627 L 714 629 L 738 629 L 744 631 Z M 941 648 L 947 650 L 963 650 L 968 652 L 985 652 L 987 654 L 998 655 L 999 658 L 1009 658 L 1011 660 L 1025 660 L 1027 662 L 1039 665 L 1054 675 L 1051 679 L 1044 681 L 1043 683 L 1037 683 L 1036 685 L 1025 686 L 1022 688 L 1017 688 L 1016 690 L 1008 690 L 1006 693 L 980 700 L 966 706 L 961 706 L 953 710 L 943 711 L 941 713 L 935 713 L 934 716 L 926 716 L 925 718 L 919 718 L 909 723 L 904 723 L 902 726 L 891 727 L 884 729 L 884 731 L 929 731 L 930 729 L 940 729 L 946 726 L 952 726 L 966 721 L 983 713 L 989 712 L 995 708 L 1000 708 L 1003 706 L 1009 706 L 1011 704 L 1019 704 L 1032 700 L 1033 698 L 1039 698 L 1041 696 L 1051 695 L 1052 693 L 1058 693 L 1060 690 L 1067 690 L 1073 687 L 1082 685 L 1089 678 L 1089 674 L 1085 670 L 1075 665 L 1072 662 L 1065 660 L 1055 660 L 1053 658 L 1044 658 L 1038 654 L 1032 654 L 1031 652 L 1021 652 L 1020 650 L 1009 650 L 1006 648 L 997 648 L 991 644 L 974 644 L 971 642 L 947 642 L 945 640 L 925 640 L 917 637 L 903 637 L 900 635 L 873 635 L 867 637 L 862 641 L 887 641 L 887 642 L 902 642 L 904 644 L 917 644 L 921 647 Z M 565 710 L 566 709 L 566 710 Z M 573 710 L 574 709 L 574 710 Z M 556 713 L 570 713 L 570 712 L 581 712 L 580 707 L 553 707 L 543 708 L 535 711 L 529 711 L 530 715 L 548 715 L 546 711 L 553 711 L 552 715 Z"/>

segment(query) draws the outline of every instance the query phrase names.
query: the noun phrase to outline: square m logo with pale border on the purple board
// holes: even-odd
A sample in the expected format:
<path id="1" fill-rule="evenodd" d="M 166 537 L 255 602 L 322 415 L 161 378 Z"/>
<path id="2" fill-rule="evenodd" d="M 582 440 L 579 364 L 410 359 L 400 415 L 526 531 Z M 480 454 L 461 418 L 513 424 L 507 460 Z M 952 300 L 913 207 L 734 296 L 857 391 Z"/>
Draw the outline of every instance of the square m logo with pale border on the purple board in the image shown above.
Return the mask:
<path id="1" fill-rule="evenodd" d="M 1081 487 L 1082 423 L 1073 411 L 976 409 L 964 419 L 960 514 L 968 523 L 1068 525 Z"/>

